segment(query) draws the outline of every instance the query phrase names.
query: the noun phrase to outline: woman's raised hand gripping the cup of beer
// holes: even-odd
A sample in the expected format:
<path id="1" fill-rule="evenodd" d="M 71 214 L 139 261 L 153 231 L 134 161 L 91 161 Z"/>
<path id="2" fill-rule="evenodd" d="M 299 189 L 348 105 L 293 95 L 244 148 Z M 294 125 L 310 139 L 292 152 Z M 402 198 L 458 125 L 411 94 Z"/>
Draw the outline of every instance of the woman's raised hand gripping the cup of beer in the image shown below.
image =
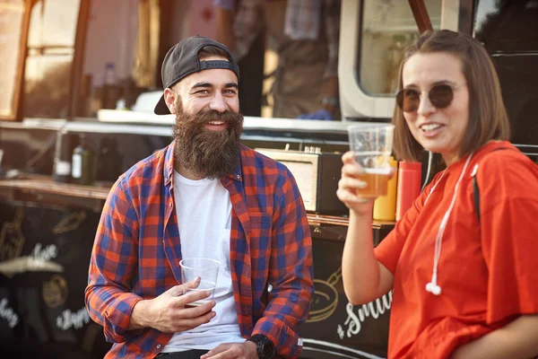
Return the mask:
<path id="1" fill-rule="evenodd" d="M 361 197 L 358 191 L 367 188 L 368 183 L 360 180 L 366 172 L 355 161 L 351 151 L 342 156 L 342 178 L 338 181 L 336 196 L 356 215 L 371 215 L 372 206 L 376 197 Z"/>

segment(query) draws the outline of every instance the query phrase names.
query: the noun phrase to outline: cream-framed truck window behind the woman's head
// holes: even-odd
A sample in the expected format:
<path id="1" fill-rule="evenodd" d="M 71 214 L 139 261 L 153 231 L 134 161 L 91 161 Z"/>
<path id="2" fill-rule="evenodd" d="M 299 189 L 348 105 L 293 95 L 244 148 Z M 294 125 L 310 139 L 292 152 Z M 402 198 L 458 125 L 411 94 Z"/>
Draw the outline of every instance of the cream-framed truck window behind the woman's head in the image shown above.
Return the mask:
<path id="1" fill-rule="evenodd" d="M 425 0 L 433 29 L 457 31 L 459 2 Z M 344 121 L 387 121 L 395 107 L 404 48 L 419 36 L 408 1 L 343 0 L 338 57 Z"/>

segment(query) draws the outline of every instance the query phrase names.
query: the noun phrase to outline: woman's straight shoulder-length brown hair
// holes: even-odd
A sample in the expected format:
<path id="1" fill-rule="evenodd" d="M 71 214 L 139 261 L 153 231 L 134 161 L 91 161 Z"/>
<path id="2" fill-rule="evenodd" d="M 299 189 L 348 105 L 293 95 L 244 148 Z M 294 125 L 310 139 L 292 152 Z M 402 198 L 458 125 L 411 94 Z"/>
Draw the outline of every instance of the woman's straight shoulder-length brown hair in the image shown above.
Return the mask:
<path id="1" fill-rule="evenodd" d="M 508 140 L 508 115 L 502 101 L 499 77 L 490 56 L 478 40 L 460 32 L 426 31 L 412 46 L 405 49 L 400 65 L 398 91 L 402 90 L 402 73 L 407 60 L 414 54 L 445 52 L 460 59 L 469 90 L 469 123 L 460 148 L 460 157 L 477 150 L 490 140 Z M 395 106 L 394 149 L 396 157 L 405 161 L 420 161 L 422 146 L 411 134 L 402 109 Z"/>

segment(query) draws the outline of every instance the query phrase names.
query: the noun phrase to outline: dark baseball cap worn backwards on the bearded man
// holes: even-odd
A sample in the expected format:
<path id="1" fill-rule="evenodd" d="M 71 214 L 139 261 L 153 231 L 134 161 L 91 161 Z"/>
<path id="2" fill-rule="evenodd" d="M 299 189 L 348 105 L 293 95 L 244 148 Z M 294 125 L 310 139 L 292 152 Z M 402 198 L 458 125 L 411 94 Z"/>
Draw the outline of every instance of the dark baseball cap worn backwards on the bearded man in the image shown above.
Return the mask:
<path id="1" fill-rule="evenodd" d="M 211 60 L 200 61 L 198 54 L 200 50 L 208 45 L 216 48 L 221 48 L 226 51 L 230 61 L 225 60 Z M 204 36 L 195 35 L 193 37 L 182 39 L 174 47 L 169 49 L 169 52 L 162 61 L 161 78 L 164 88 L 169 88 L 189 74 L 194 74 L 200 71 L 209 70 L 213 68 L 224 68 L 233 71 L 238 76 L 239 81 L 239 66 L 235 62 L 234 58 L 230 54 L 230 50 L 213 39 L 206 38 Z M 153 110 L 157 115 L 169 115 L 170 111 L 166 102 L 164 101 L 164 94 L 161 96 L 161 100 L 157 102 L 155 109 Z"/>

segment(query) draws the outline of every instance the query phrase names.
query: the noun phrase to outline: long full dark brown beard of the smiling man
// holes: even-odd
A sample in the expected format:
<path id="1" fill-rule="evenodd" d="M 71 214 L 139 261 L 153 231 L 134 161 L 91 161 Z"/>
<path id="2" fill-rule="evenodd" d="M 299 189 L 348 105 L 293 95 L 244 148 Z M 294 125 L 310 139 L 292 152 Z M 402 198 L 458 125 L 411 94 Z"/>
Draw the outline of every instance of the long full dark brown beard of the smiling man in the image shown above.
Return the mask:
<path id="1" fill-rule="evenodd" d="M 176 161 L 195 177 L 221 179 L 233 173 L 239 164 L 239 138 L 243 129 L 243 115 L 226 110 L 202 110 L 188 114 L 181 99 L 176 101 Z M 227 128 L 210 130 L 211 121 L 224 121 Z"/>

